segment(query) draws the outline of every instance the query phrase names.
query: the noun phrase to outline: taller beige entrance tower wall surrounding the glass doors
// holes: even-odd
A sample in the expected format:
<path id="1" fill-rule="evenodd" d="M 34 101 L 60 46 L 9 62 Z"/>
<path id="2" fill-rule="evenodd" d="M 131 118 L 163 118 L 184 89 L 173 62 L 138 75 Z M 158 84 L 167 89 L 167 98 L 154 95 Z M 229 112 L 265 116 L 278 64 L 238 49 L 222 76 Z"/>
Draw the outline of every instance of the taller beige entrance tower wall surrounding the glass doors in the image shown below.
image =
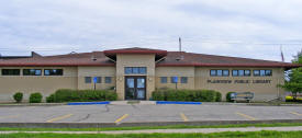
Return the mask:
<path id="1" fill-rule="evenodd" d="M 125 94 L 125 76 L 124 67 L 147 67 L 146 76 L 146 96 L 150 97 L 155 88 L 155 55 L 116 55 L 116 92 L 119 100 L 124 100 Z M 128 74 L 142 76 L 142 74 Z"/>

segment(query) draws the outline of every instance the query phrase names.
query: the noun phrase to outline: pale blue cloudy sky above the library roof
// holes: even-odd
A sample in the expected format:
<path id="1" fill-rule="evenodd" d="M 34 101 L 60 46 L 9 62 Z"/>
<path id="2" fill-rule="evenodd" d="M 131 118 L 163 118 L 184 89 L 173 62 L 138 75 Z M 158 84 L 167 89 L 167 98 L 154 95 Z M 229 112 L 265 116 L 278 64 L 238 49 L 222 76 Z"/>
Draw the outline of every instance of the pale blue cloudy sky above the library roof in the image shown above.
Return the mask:
<path id="1" fill-rule="evenodd" d="M 181 37 L 187 53 L 291 61 L 301 13 L 302 0 L 1 0 L 0 54 L 178 50 Z"/>

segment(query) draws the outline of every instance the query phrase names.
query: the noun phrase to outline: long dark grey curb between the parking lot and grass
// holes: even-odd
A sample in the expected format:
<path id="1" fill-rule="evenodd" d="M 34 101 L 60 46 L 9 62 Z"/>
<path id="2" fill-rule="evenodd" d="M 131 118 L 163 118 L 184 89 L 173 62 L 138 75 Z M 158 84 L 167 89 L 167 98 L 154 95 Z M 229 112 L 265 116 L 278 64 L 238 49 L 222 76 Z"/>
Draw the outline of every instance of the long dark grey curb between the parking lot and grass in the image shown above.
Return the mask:
<path id="1" fill-rule="evenodd" d="M 0 123 L 0 127 L 11 128 L 102 128 L 102 127 L 134 127 L 134 126 L 209 126 L 235 124 L 273 124 L 302 123 L 302 119 L 267 119 L 267 120 L 200 120 L 200 122 L 134 122 L 134 123 Z"/>

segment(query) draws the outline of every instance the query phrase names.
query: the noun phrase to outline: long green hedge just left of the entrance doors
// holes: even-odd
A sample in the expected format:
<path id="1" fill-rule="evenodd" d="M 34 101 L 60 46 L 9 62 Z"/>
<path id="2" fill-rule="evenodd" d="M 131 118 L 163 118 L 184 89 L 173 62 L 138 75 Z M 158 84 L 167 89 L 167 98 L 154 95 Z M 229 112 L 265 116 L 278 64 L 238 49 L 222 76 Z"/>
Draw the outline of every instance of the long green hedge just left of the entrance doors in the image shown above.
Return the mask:
<path id="1" fill-rule="evenodd" d="M 91 102 L 115 101 L 118 94 L 111 90 L 70 90 L 59 89 L 46 97 L 46 102 Z"/>

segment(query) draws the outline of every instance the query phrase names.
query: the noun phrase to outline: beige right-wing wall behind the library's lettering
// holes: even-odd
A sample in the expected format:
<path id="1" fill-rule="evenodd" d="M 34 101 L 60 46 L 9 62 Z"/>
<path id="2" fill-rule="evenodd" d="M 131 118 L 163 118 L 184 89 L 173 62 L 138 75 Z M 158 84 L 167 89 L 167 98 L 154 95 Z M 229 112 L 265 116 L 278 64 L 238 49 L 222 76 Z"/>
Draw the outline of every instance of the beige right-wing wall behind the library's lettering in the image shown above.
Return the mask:
<path id="1" fill-rule="evenodd" d="M 211 69 L 228 69 L 230 77 L 210 77 Z M 249 69 L 250 77 L 232 77 L 233 69 Z M 254 77 L 254 69 L 271 69 L 271 77 Z M 284 90 L 277 88 L 278 83 L 283 83 L 284 70 L 281 68 L 195 68 L 195 89 L 210 89 L 220 91 L 225 100 L 227 92 L 254 92 L 255 101 L 272 100 L 280 94 L 284 97 Z M 232 80 L 232 83 L 208 83 L 208 80 Z M 270 83 L 234 83 L 235 80 L 270 80 Z"/>

